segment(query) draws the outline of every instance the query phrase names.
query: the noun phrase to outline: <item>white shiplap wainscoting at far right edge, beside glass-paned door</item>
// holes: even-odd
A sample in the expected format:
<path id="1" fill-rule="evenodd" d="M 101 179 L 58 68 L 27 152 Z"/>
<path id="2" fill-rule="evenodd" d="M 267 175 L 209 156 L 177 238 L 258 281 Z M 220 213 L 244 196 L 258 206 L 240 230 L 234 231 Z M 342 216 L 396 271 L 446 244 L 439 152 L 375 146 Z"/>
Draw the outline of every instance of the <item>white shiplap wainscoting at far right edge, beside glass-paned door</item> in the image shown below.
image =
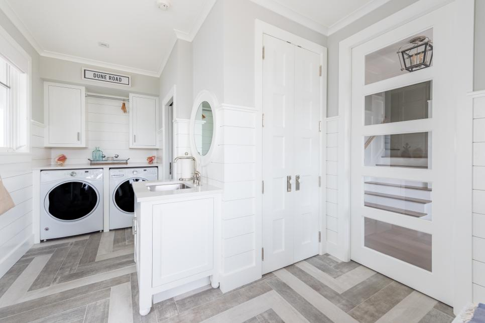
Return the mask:
<path id="1" fill-rule="evenodd" d="M 473 98 L 473 302 L 485 302 L 485 93 Z"/>

